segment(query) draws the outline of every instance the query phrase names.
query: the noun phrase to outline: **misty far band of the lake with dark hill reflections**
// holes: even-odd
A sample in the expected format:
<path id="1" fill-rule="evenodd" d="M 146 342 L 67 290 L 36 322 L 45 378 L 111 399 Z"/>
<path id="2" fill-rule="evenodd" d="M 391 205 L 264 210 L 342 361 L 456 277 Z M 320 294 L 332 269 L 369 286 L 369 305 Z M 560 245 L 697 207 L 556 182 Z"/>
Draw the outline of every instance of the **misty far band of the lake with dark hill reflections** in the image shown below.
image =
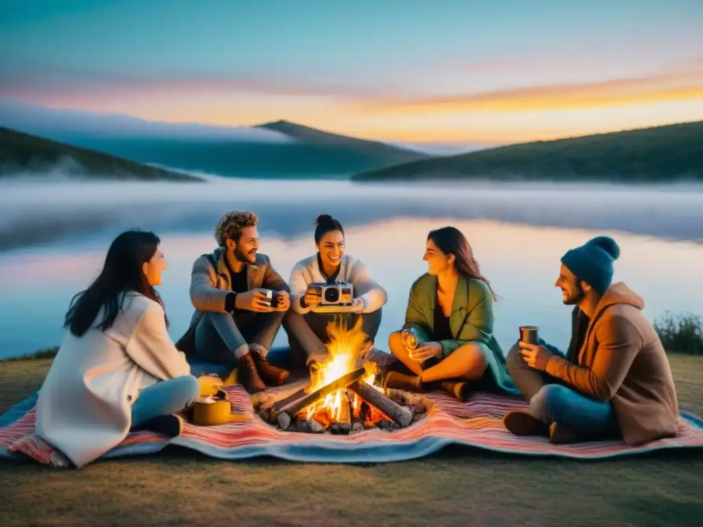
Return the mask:
<path id="1" fill-rule="evenodd" d="M 318 214 L 345 226 L 399 216 L 490 219 L 534 226 L 617 229 L 703 240 L 703 188 L 557 183 L 261 181 L 217 178 L 188 183 L 61 181 L 40 188 L 0 181 L 0 250 L 148 226 L 160 233 L 210 230 L 222 213 L 252 208 L 262 230 L 295 238 Z"/>

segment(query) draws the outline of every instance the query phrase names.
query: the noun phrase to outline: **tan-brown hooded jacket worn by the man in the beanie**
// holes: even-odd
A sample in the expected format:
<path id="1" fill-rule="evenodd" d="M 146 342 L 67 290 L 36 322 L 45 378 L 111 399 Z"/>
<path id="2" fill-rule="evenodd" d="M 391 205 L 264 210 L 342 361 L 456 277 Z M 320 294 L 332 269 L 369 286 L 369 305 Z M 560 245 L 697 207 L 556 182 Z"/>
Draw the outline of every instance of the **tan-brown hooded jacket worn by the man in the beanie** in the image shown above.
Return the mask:
<path id="1" fill-rule="evenodd" d="M 612 401 L 624 441 L 676 436 L 678 401 L 669 359 L 644 301 L 624 283 L 610 286 L 595 309 L 578 364 L 554 356 L 546 372 L 598 401 Z"/>

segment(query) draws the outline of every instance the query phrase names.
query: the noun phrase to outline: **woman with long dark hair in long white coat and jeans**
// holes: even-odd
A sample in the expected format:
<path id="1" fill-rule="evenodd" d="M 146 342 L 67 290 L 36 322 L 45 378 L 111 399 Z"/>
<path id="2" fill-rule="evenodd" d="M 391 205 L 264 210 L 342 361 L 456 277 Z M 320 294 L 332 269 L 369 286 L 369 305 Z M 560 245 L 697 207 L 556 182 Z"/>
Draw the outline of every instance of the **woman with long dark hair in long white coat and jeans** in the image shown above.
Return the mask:
<path id="1" fill-rule="evenodd" d="M 179 435 L 178 412 L 200 395 L 154 289 L 167 267 L 159 244 L 141 230 L 117 236 L 100 275 L 66 313 L 63 341 L 39 391 L 36 427 L 76 467 L 130 430 Z"/>

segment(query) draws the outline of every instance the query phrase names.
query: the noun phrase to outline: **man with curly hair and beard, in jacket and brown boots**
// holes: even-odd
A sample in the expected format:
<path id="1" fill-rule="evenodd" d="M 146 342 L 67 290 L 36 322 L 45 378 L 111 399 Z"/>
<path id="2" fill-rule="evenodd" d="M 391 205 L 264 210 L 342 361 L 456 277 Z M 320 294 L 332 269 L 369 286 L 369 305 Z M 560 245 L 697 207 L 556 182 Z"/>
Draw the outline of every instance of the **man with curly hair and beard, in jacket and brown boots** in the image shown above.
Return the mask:
<path id="1" fill-rule="evenodd" d="M 238 367 L 250 392 L 277 386 L 289 372 L 266 360 L 290 307 L 290 289 L 259 254 L 257 214 L 232 211 L 217 224 L 219 247 L 193 263 L 191 301 L 195 313 L 176 347 L 188 356 Z M 267 293 L 273 292 L 273 301 Z"/>

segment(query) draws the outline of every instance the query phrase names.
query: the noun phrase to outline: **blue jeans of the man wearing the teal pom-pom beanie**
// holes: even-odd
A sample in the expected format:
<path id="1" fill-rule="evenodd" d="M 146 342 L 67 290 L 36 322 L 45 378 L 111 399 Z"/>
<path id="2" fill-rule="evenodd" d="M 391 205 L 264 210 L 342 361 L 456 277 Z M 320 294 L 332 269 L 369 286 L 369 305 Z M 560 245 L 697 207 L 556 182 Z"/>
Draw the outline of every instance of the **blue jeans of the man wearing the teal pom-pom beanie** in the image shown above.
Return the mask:
<path id="1" fill-rule="evenodd" d="M 605 439 L 619 436 L 610 401 L 595 401 L 561 384 L 546 384 L 530 399 L 530 413 L 548 424 L 557 422 L 579 437 Z"/>

